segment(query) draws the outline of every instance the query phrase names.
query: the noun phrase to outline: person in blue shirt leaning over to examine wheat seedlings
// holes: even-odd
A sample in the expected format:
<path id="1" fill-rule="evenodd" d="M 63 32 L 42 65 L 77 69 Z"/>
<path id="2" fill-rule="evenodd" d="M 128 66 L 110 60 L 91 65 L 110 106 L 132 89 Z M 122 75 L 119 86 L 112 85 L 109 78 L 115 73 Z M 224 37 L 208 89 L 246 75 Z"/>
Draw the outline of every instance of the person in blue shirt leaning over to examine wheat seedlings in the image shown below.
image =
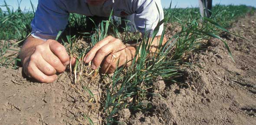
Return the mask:
<path id="1" fill-rule="evenodd" d="M 158 7 L 157 7 L 158 6 Z M 158 12 L 158 8 L 159 11 Z M 69 62 L 65 47 L 55 41 L 59 31 L 65 29 L 69 13 L 85 16 L 108 17 L 132 16 L 130 20 L 143 35 L 152 36 L 158 21 L 164 19 L 160 0 L 39 0 L 35 17 L 31 22 L 32 33 L 21 48 L 20 59 L 24 73 L 40 82 L 51 83 L 56 80 L 56 72 L 64 72 Z M 158 47 L 163 25 L 154 38 L 151 51 Z M 166 42 L 164 38 L 163 44 Z M 113 73 L 118 67 L 130 62 L 135 56 L 135 47 L 126 46 L 121 40 L 108 36 L 95 44 L 85 55 L 85 63 L 92 61 L 92 69 L 101 66 L 102 73 Z M 112 59 L 115 61 L 110 61 Z M 74 59 L 72 59 L 74 60 Z M 102 65 L 101 65 L 102 64 Z"/>

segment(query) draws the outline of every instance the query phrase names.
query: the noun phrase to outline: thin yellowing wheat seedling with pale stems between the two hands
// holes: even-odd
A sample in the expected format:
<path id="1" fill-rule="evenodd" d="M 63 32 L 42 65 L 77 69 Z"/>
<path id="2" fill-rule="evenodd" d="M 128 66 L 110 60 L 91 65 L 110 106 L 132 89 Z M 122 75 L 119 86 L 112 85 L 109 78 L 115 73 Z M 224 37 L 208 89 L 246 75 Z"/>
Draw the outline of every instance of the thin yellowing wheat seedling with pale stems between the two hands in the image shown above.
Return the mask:
<path id="1" fill-rule="evenodd" d="M 61 34 L 61 33 L 59 33 Z M 58 35 L 60 36 L 60 35 Z M 58 40 L 58 37 L 56 38 Z M 85 53 L 88 52 L 89 47 L 87 48 L 77 48 L 77 45 L 81 44 L 79 43 L 79 38 L 76 38 L 76 36 L 70 37 L 70 35 L 66 35 L 66 40 L 67 43 L 64 42 L 62 39 L 62 42 L 66 46 L 67 50 L 69 51 L 69 56 L 70 56 L 70 62 L 72 62 L 73 57 L 75 58 L 75 64 L 74 66 L 71 65 L 69 66 L 69 72 L 70 72 L 70 80 L 73 81 L 73 84 L 71 83 L 72 88 L 74 88 L 79 94 L 81 94 L 85 99 L 88 100 L 88 102 L 92 103 L 92 105 L 95 105 L 95 97 L 92 91 L 86 87 L 90 86 L 90 83 L 86 83 L 86 86 L 83 86 L 83 92 L 79 91 L 75 87 L 75 85 L 80 84 L 80 79 L 82 77 L 89 76 L 91 73 L 88 72 L 89 66 L 86 66 L 85 63 L 83 62 L 83 58 L 85 57 Z M 72 70 L 73 67 L 73 70 Z M 85 95 L 84 95 L 85 94 Z M 84 119 L 90 124 L 94 125 L 93 121 L 90 119 L 90 111 L 89 113 L 86 113 L 87 115 L 83 115 Z"/>

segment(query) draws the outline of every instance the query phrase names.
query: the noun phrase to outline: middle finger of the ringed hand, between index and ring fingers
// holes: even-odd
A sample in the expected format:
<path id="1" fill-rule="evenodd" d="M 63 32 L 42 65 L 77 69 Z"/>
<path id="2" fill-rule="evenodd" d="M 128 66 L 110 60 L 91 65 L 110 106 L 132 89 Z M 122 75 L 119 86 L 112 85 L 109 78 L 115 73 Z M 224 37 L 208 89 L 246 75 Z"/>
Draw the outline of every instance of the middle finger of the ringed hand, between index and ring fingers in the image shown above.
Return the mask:
<path id="1" fill-rule="evenodd" d="M 105 58 L 105 56 L 107 56 L 111 52 L 114 52 L 114 50 L 116 50 L 116 47 L 120 46 L 120 45 L 123 45 L 120 48 L 126 47 L 124 44 L 117 44 L 116 42 L 111 42 L 111 43 L 103 46 L 100 50 L 98 50 L 98 52 L 96 53 L 96 56 L 92 60 L 92 63 L 94 65 L 94 66 L 92 66 L 92 69 L 98 69 L 98 67 L 102 63 L 102 60 Z M 117 52 L 117 53 L 119 53 L 119 52 Z"/>

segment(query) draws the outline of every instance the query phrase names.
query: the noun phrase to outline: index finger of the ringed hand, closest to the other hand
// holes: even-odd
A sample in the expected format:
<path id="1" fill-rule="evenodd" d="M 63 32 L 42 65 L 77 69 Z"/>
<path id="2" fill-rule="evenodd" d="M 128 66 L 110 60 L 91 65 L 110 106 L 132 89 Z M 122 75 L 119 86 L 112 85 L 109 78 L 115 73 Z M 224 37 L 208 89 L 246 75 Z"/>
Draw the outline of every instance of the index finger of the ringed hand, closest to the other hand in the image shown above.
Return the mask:
<path id="1" fill-rule="evenodd" d="M 102 41 L 99 41 L 97 44 L 95 44 L 95 46 L 92 47 L 92 49 L 85 55 L 85 58 L 84 58 L 85 63 L 89 63 L 90 61 L 92 61 L 97 51 L 101 49 L 103 46 L 105 46 L 106 44 L 108 44 L 113 39 L 115 38 L 113 38 L 112 36 L 108 36 Z"/>

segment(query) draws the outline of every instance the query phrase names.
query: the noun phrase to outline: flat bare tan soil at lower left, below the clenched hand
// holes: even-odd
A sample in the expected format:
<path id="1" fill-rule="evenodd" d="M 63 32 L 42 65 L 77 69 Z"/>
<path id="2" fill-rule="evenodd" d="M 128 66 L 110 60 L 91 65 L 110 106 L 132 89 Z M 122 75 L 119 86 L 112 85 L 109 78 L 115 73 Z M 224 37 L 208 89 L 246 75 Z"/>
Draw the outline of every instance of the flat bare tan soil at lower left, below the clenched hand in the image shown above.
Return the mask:
<path id="1" fill-rule="evenodd" d="M 68 73 L 52 84 L 42 84 L 23 78 L 21 68 L 0 70 L 0 125 L 80 125 L 86 124 L 83 115 L 100 119 L 101 113 L 94 112 L 99 107 L 97 97 L 90 101 L 82 85 L 70 84 Z M 81 83 L 90 82 L 84 78 Z M 91 91 L 97 93 L 96 87 L 92 85 Z"/>

